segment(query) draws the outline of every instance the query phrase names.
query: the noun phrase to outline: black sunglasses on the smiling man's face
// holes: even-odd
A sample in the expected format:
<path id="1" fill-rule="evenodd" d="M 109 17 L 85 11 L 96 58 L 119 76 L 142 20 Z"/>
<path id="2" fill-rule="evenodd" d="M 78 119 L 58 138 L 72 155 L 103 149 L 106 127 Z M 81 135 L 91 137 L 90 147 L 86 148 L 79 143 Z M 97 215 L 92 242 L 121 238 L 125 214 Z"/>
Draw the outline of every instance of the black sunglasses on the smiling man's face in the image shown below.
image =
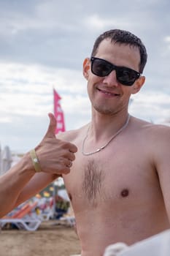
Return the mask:
<path id="1" fill-rule="evenodd" d="M 123 86 L 132 86 L 139 78 L 140 73 L 128 67 L 117 67 L 109 61 L 91 57 L 91 72 L 98 77 L 105 77 L 109 75 L 112 70 L 116 72 L 116 78 Z"/>

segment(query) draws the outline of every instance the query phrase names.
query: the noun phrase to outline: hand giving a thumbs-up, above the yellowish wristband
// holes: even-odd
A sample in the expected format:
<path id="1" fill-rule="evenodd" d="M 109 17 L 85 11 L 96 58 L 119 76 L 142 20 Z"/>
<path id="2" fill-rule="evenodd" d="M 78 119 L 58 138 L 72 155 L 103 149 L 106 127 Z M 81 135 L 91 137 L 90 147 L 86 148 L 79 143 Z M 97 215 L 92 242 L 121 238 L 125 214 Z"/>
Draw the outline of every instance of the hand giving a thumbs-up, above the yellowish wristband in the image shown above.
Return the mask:
<path id="1" fill-rule="evenodd" d="M 41 170 L 45 173 L 56 173 L 58 175 L 69 173 L 77 147 L 72 143 L 55 138 L 57 122 L 52 113 L 49 113 L 48 116 L 50 117 L 50 124 L 46 135 L 35 148 Z"/>

